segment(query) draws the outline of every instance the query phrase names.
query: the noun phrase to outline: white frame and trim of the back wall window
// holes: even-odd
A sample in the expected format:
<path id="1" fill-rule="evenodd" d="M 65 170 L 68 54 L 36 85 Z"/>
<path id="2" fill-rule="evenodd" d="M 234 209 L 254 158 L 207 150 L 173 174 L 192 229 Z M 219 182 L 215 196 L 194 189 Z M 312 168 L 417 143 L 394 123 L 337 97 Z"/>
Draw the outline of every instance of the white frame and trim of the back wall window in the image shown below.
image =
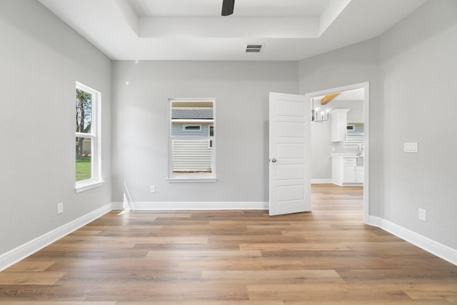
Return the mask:
<path id="1" fill-rule="evenodd" d="M 171 136 L 171 125 L 172 123 L 176 122 L 183 122 L 188 123 L 188 125 L 192 125 L 194 121 L 189 121 L 189 119 L 171 119 L 171 104 L 173 102 L 207 102 L 211 101 L 213 104 L 213 119 L 200 119 L 199 121 L 209 123 L 214 126 L 213 128 L 216 129 L 216 99 L 214 98 L 191 98 L 191 99 L 184 99 L 184 98 L 171 98 L 169 99 L 168 111 L 169 111 L 169 122 L 168 122 L 168 138 L 169 138 L 169 166 L 168 166 L 168 174 L 166 181 L 169 183 L 194 183 L 194 182 L 216 182 L 216 137 L 215 136 L 201 136 L 202 139 L 208 139 L 213 141 L 212 147 L 212 164 L 211 164 L 211 174 L 174 174 L 173 173 L 173 140 L 178 139 L 176 136 Z M 197 123 L 197 122 L 196 122 Z M 195 124 L 198 125 L 198 124 Z M 191 132 L 187 130 L 188 132 Z M 181 137 L 181 136 L 179 136 Z M 200 136 L 199 136 L 200 137 Z M 195 137 L 194 137 L 195 138 Z M 194 139 L 193 138 L 193 139 Z M 204 175 L 204 176 L 203 176 Z"/>

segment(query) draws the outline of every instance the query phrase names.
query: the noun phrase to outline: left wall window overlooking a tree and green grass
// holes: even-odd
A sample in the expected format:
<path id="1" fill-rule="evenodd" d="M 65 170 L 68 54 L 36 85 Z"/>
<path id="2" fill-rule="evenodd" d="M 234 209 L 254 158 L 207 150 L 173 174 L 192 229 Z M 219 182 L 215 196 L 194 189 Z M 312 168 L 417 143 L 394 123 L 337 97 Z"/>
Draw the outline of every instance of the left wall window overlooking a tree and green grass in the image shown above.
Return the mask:
<path id="1" fill-rule="evenodd" d="M 94 89 L 76 83 L 76 192 L 101 186 L 100 99 Z"/>

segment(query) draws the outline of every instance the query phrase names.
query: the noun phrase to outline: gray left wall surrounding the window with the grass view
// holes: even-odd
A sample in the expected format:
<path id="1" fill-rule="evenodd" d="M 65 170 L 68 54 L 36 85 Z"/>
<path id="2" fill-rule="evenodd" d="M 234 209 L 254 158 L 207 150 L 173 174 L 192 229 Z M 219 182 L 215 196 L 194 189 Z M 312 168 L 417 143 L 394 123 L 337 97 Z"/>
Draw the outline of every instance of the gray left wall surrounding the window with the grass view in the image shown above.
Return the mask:
<path id="1" fill-rule="evenodd" d="M 33 0 L 0 1 L 0 37 L 1 254 L 111 201 L 111 61 Z M 81 194 L 76 81 L 101 91 L 106 180 Z"/>

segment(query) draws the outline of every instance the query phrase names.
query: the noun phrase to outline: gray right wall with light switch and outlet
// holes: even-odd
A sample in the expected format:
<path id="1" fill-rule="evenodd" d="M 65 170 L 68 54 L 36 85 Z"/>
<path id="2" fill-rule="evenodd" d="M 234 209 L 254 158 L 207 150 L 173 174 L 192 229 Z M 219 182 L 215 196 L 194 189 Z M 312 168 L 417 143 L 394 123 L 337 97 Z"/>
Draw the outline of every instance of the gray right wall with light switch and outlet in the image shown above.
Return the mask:
<path id="1" fill-rule="evenodd" d="M 381 81 L 381 216 L 457 249 L 457 1 L 428 1 L 381 36 Z"/>

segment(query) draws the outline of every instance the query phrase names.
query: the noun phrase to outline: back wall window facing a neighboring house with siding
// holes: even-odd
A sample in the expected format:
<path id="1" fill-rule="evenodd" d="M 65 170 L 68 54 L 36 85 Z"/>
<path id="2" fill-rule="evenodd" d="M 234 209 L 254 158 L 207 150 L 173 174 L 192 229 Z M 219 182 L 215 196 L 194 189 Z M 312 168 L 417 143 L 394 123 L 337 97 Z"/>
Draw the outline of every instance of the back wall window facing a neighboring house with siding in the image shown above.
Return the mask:
<path id="1" fill-rule="evenodd" d="M 169 181 L 216 181 L 214 99 L 169 99 Z"/>

